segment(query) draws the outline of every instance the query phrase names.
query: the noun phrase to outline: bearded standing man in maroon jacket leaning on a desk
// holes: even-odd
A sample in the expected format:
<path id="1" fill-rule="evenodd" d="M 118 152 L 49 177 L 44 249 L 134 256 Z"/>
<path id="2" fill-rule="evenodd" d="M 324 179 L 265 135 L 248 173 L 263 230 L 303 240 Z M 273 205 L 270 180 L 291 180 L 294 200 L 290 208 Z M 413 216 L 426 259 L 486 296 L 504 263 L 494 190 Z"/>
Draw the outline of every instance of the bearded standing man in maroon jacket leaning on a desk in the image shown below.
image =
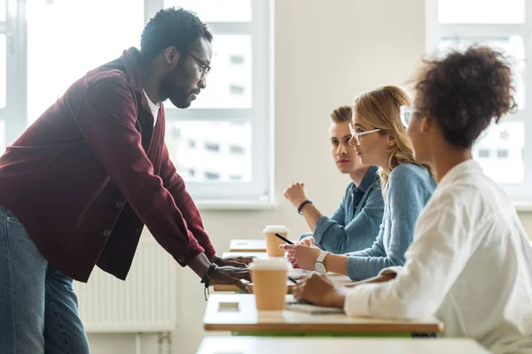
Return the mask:
<path id="1" fill-rule="evenodd" d="M 164 143 L 162 102 L 207 87 L 211 40 L 192 12 L 158 12 L 140 51 L 75 81 L 0 158 L 0 353 L 89 353 L 72 281 L 126 279 L 145 225 L 202 282 L 244 289 L 249 259 L 215 256 Z"/>

